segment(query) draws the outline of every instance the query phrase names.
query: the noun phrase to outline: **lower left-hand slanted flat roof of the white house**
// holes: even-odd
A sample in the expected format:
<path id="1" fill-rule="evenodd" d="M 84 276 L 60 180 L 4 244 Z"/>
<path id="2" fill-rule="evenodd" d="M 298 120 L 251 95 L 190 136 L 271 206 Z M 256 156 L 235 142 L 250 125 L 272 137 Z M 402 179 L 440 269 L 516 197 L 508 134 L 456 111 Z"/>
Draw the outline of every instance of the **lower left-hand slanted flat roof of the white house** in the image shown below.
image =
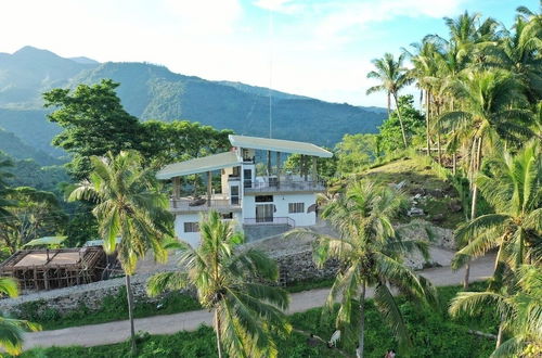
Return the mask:
<path id="1" fill-rule="evenodd" d="M 224 152 L 167 165 L 156 174 L 156 178 L 171 179 L 180 176 L 189 176 L 191 174 L 230 168 L 238 165 L 241 162 L 235 153 Z"/>

